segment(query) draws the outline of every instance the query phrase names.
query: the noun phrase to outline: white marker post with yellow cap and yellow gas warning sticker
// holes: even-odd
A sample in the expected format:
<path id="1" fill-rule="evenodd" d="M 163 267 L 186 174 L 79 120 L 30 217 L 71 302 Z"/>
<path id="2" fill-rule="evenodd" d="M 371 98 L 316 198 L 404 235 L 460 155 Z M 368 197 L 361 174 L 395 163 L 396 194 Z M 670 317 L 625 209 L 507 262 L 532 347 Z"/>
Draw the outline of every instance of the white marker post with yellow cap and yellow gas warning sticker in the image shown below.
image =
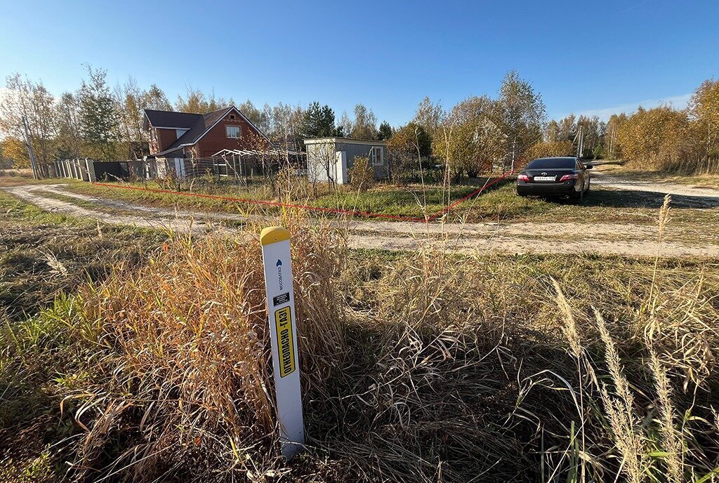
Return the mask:
<path id="1" fill-rule="evenodd" d="M 265 265 L 280 444 L 283 456 L 289 459 L 301 451 L 305 443 L 290 232 L 281 226 L 270 226 L 262 230 L 260 244 Z"/>

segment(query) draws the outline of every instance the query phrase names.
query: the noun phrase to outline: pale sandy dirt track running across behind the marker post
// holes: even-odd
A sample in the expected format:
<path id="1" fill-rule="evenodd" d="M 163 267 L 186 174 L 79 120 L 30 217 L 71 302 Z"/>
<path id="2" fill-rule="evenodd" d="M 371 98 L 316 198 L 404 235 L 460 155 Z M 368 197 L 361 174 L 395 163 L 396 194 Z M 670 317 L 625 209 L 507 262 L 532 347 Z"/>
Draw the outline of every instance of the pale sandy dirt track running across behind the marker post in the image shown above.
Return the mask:
<path id="1" fill-rule="evenodd" d="M 659 183 L 663 184 L 663 183 Z M 636 189 L 635 185 L 631 185 Z M 4 188 L 17 198 L 55 213 L 97 219 L 109 224 L 127 224 L 178 231 L 237 232 L 222 226 L 223 221 L 241 221 L 239 215 L 175 211 L 167 208 L 136 206 L 124 201 L 97 198 L 64 190 L 64 185 L 21 185 Z M 686 188 L 686 187 L 684 187 Z M 704 188 L 702 188 L 704 189 Z M 683 194 L 683 193 L 682 193 Z M 97 209 L 52 198 L 63 195 L 89 202 Z M 691 195 L 697 195 L 692 193 Z M 719 193 L 717 193 L 719 196 Z M 103 211 L 109 209 L 109 211 Z M 122 213 L 112 213 L 112 211 Z M 133 214 L 137 213 L 137 214 Z M 623 224 L 518 223 L 518 224 L 420 224 L 393 221 L 338 221 L 336 226 L 349 234 L 352 247 L 415 250 L 426 244 L 441 244 L 458 252 L 502 253 L 597 253 L 628 256 L 654 256 L 657 253 L 656 227 Z M 719 257 L 719 246 L 665 242 L 662 256 Z"/>

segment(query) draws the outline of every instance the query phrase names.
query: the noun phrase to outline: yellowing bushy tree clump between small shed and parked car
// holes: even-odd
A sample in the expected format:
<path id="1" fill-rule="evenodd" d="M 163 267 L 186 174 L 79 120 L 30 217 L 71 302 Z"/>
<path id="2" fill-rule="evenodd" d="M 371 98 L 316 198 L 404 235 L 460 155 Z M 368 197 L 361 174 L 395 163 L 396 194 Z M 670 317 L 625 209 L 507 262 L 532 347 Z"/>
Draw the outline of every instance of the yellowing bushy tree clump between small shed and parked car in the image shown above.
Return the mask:
<path id="1" fill-rule="evenodd" d="M 449 182 L 510 170 L 541 142 L 545 124 L 541 95 L 516 70 L 505 75 L 494 98 L 472 96 L 451 109 L 424 98 L 412 121 L 388 139 L 395 178 L 426 174 Z"/>

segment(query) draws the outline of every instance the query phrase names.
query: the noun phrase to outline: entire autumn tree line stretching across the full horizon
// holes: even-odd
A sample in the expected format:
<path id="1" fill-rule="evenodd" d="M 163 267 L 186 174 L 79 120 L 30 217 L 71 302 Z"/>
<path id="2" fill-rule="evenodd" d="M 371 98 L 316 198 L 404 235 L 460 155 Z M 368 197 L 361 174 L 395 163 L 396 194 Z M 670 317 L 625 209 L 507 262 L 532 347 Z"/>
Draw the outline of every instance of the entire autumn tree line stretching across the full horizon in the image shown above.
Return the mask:
<path id="1" fill-rule="evenodd" d="M 86 66 L 77 91 L 55 97 L 42 82 L 19 74 L 6 81 L 0 100 L 0 162 L 27 165 L 22 121 L 39 162 L 66 157 L 99 160 L 147 155 L 143 109 L 206 113 L 233 105 L 232 98 L 189 88 L 174 103 L 161 88 L 141 88 L 129 78 L 110 88 L 106 71 Z M 377 123 L 372 109 L 357 104 L 339 119 L 327 104 L 278 103 L 237 108 L 278 145 L 303 149 L 311 137 L 383 139 L 388 142 L 394 180 L 423 175 L 473 178 L 493 170 L 518 168 L 534 157 L 577 155 L 584 159 L 624 159 L 661 170 L 718 171 L 719 81 L 697 88 L 687 109 L 660 106 L 615 114 L 546 119 L 541 95 L 512 70 L 495 96 L 471 96 L 449 109 L 426 97 L 407 124 Z M 439 167 L 439 170 L 437 170 Z M 439 173 L 438 173 L 439 171 Z"/>

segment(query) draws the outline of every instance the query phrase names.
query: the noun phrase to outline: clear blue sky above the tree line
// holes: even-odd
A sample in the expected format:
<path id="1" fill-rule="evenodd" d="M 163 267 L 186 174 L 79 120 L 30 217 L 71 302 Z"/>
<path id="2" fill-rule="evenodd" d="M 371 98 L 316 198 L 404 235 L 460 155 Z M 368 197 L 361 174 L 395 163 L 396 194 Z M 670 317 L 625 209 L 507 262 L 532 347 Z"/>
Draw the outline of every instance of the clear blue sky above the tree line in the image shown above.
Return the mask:
<path id="1" fill-rule="evenodd" d="M 186 88 L 257 106 L 362 102 L 411 119 L 494 95 L 506 71 L 533 83 L 550 117 L 682 107 L 719 76 L 719 1 L 214 2 L 0 0 L 0 76 L 74 90 L 83 63 L 111 85 L 132 75 L 171 101 Z"/>

